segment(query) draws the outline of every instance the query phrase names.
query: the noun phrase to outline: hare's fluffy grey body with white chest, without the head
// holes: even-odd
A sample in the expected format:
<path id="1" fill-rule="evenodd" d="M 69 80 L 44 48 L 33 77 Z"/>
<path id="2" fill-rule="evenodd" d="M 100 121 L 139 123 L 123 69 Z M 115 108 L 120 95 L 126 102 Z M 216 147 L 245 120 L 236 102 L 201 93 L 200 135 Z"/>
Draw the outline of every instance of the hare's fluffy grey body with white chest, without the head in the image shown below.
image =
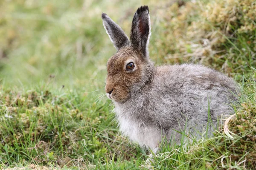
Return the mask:
<path id="1" fill-rule="evenodd" d="M 200 137 L 207 122 L 210 133 L 218 117 L 233 112 L 236 88 L 232 79 L 202 65 L 157 67 L 150 82 L 130 99 L 114 102 L 120 130 L 151 149 L 163 136 L 179 142 L 175 130 L 183 132 L 185 126 L 190 135 Z"/>

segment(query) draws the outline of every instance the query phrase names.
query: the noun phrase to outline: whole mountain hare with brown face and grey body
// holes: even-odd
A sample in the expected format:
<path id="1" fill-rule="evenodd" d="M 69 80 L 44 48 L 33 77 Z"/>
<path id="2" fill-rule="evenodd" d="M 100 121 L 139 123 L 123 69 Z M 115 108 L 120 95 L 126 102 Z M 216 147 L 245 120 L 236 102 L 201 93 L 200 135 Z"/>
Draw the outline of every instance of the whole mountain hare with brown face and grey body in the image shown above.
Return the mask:
<path id="1" fill-rule="evenodd" d="M 157 152 L 163 137 L 176 143 L 181 132 L 200 138 L 214 130 L 221 115 L 233 112 L 238 88 L 227 76 L 203 65 L 154 66 L 148 6 L 134 14 L 130 40 L 107 14 L 102 20 L 117 49 L 107 63 L 105 91 L 121 132 L 132 141 Z"/>

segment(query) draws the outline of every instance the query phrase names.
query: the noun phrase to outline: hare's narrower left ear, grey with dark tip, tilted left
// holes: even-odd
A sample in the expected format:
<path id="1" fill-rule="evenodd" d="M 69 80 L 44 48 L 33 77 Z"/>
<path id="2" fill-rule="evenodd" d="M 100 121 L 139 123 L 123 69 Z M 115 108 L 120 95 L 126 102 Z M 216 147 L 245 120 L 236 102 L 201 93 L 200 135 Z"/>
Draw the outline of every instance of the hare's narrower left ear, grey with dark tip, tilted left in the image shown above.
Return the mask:
<path id="1" fill-rule="evenodd" d="M 117 50 L 129 45 L 129 39 L 125 32 L 107 14 L 102 13 L 103 26 Z"/>

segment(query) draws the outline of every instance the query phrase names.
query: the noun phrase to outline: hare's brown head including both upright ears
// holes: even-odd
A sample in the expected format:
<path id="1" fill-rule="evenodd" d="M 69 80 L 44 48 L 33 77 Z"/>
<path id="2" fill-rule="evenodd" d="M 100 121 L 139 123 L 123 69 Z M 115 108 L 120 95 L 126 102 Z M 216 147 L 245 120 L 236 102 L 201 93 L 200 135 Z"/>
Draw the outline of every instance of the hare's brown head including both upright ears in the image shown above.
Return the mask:
<path id="1" fill-rule="evenodd" d="M 105 91 L 108 98 L 125 102 L 131 92 L 150 81 L 154 65 L 149 59 L 150 17 L 148 6 L 141 6 L 134 14 L 130 40 L 107 14 L 102 13 L 103 25 L 117 49 L 107 63 Z"/>

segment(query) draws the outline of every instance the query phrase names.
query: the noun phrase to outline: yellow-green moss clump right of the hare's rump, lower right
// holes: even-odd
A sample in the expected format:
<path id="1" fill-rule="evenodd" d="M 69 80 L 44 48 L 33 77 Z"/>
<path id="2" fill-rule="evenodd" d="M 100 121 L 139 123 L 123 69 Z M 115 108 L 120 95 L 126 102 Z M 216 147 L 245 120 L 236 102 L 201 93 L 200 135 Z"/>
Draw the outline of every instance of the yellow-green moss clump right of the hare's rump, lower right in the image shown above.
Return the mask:
<path id="1" fill-rule="evenodd" d="M 256 106 L 242 104 L 242 109 L 235 119 L 229 122 L 229 129 L 236 135 L 235 141 L 230 142 L 228 148 L 233 153 L 235 161 L 246 160 L 247 169 L 256 168 Z M 236 140 L 239 139 L 239 140 Z"/>

